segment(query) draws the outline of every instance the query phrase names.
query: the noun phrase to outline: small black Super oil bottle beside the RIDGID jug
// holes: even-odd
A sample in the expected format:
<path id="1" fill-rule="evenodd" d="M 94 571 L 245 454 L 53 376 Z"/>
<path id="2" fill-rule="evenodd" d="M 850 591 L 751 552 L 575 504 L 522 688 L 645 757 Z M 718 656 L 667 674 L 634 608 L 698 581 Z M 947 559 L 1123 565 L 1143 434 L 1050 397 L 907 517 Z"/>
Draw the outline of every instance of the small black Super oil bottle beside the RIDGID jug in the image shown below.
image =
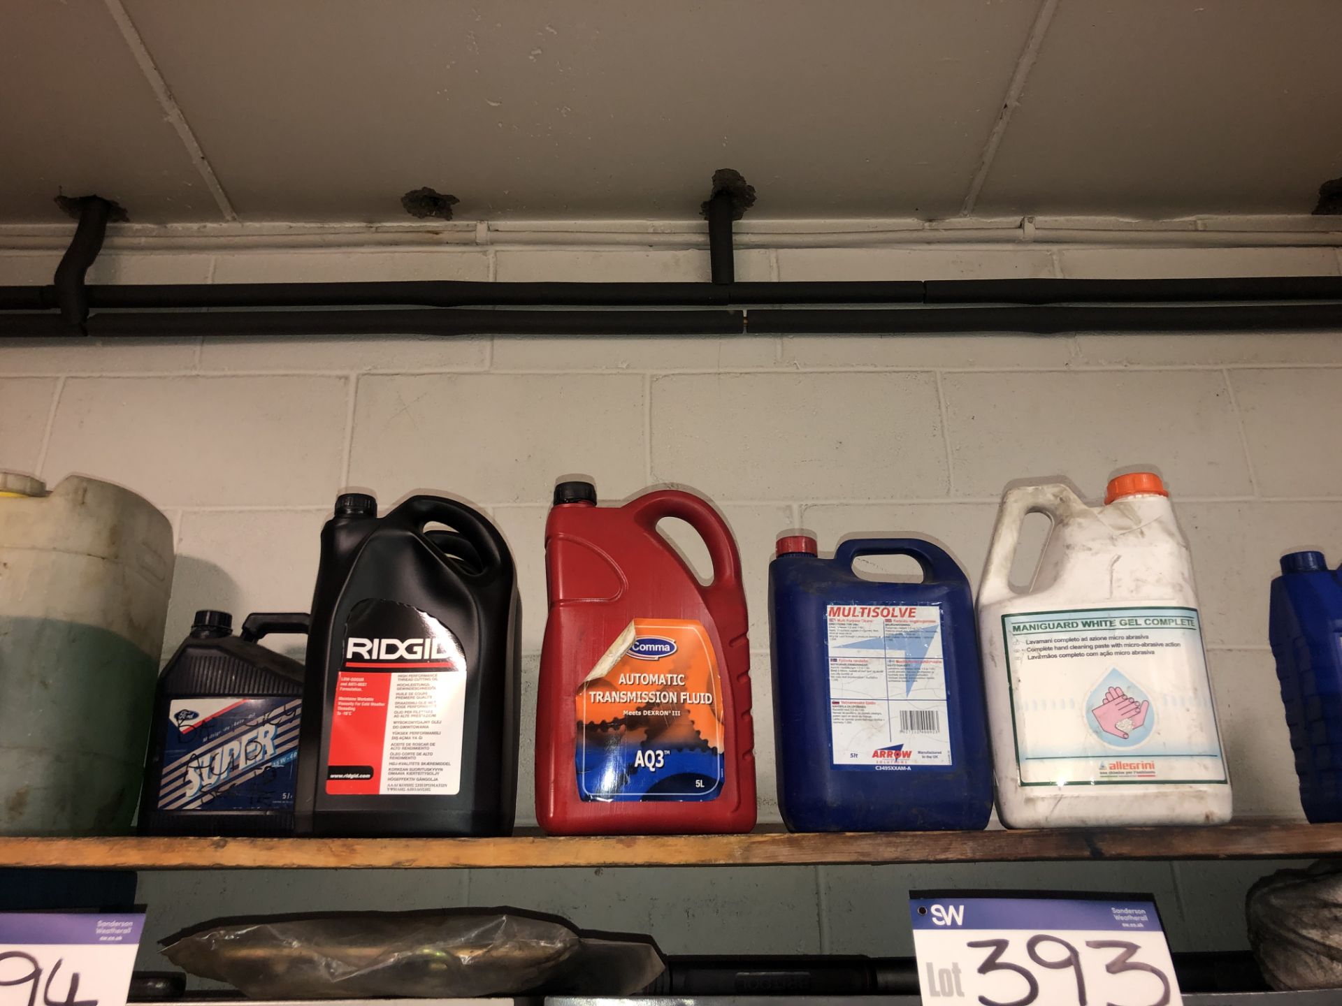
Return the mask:
<path id="1" fill-rule="evenodd" d="M 307 632 L 306 614 L 196 612 L 158 677 L 144 834 L 267 836 L 294 830 L 303 665 L 258 645 Z"/>

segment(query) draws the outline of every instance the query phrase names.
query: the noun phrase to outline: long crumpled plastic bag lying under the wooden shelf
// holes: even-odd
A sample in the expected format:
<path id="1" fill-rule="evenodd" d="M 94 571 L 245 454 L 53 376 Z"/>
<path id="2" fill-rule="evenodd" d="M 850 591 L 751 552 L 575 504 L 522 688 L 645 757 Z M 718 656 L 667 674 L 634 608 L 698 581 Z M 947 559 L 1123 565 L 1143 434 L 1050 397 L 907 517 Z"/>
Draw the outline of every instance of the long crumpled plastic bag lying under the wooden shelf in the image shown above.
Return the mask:
<path id="1" fill-rule="evenodd" d="M 666 970 L 651 939 L 514 911 L 260 916 L 164 943 L 177 967 L 254 999 L 631 995 Z"/>

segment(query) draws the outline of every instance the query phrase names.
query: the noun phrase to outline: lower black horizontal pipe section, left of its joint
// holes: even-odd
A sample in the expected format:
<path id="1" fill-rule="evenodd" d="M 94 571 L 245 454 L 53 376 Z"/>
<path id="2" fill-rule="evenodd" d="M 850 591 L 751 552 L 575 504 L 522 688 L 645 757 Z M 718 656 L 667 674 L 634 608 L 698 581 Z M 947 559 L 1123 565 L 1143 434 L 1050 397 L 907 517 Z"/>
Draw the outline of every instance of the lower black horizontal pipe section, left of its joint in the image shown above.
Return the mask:
<path id="1" fill-rule="evenodd" d="M 94 338 L 200 335 L 739 335 L 741 311 L 480 311 L 427 307 L 365 311 L 110 311 L 85 325 Z M 81 335 L 55 314 L 0 321 L 0 338 Z"/>

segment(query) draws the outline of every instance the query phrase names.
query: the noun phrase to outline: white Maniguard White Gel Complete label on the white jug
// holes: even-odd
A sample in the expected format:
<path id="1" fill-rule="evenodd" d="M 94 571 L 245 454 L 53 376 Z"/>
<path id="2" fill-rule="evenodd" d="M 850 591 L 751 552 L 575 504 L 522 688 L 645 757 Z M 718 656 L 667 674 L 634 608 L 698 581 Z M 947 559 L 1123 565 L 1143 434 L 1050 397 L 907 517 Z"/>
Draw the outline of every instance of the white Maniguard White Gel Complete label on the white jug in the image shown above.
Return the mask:
<path id="1" fill-rule="evenodd" d="M 1193 608 L 1002 616 L 1024 786 L 1225 782 Z"/>

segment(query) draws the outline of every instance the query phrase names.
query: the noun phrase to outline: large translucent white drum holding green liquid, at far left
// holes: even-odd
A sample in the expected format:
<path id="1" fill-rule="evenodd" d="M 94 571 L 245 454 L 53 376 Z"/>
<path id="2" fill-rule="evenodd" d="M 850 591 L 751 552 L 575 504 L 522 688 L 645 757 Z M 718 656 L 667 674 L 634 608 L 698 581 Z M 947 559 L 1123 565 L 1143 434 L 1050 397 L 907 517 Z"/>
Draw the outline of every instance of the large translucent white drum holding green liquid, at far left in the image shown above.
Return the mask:
<path id="1" fill-rule="evenodd" d="M 134 492 L 0 472 L 0 834 L 130 829 L 172 570 Z"/>

